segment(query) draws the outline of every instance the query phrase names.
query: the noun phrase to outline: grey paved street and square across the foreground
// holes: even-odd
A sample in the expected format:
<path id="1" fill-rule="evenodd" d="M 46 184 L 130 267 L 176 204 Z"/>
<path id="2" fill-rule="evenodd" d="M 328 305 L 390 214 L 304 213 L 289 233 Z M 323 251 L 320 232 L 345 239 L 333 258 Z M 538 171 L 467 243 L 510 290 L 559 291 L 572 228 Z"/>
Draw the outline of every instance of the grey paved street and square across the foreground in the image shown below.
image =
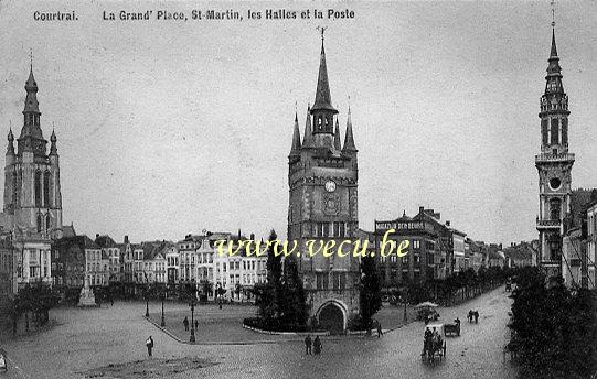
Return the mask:
<path id="1" fill-rule="evenodd" d="M 424 326 L 419 322 L 387 333 L 381 339 L 324 338 L 321 356 L 305 357 L 300 342 L 232 346 L 180 344 L 143 320 L 145 308 L 139 308 L 139 303 L 117 303 L 114 308 L 56 310 L 52 317 L 60 325 L 42 334 L 2 343 L 11 359 L 10 371 L 4 377 L 83 378 L 81 372 L 89 369 L 146 359 L 145 339 L 152 335 L 153 359 L 194 357 L 217 364 L 170 373 L 164 376 L 167 378 L 510 379 L 515 372 L 502 364 L 501 355 L 510 302 L 501 288 L 463 305 L 439 310 L 444 321 L 456 316 L 462 320 L 462 336 L 448 338 L 447 359 L 434 366 L 420 360 Z M 479 310 L 479 324 L 466 321 L 469 308 Z M 136 377 L 148 376 L 137 373 Z M 0 378 L 4 379 L 1 375 Z"/>

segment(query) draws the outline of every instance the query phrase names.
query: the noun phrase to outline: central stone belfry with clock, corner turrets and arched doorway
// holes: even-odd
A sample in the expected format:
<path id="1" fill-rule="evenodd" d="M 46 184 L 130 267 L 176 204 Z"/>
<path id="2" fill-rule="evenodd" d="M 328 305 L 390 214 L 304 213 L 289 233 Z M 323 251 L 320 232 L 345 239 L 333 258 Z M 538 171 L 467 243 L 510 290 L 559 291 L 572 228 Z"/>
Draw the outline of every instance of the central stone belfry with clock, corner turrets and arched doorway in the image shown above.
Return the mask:
<path id="1" fill-rule="evenodd" d="M 347 116 L 344 143 L 341 145 L 338 110 L 332 106 L 323 33 L 316 99 L 308 108 L 305 134 L 300 139 L 298 116 L 295 116 L 292 147 L 288 155 L 288 239 L 300 247 L 299 271 L 308 294 L 311 321 L 334 332 L 347 328 L 348 318 L 359 312 L 359 259 L 310 257 L 308 240 L 315 249 L 329 240 L 338 247 L 355 239 L 359 229 L 356 148 L 350 109 Z M 334 249 L 335 250 L 335 249 Z"/>

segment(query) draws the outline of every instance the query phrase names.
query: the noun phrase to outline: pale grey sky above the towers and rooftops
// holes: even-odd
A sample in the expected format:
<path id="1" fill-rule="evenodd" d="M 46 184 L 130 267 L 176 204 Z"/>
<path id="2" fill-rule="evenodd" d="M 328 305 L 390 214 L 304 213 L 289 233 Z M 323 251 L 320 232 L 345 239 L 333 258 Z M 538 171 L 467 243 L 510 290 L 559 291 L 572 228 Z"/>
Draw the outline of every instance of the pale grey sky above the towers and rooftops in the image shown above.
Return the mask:
<path id="1" fill-rule="evenodd" d="M 300 19 L 313 8 L 354 18 Z M 191 20 L 209 9 L 243 20 Z M 264 20 L 266 9 L 298 19 Z M 73 10 L 77 21 L 34 20 Z M 103 20 L 121 10 L 189 20 Z M 247 20 L 248 10 L 262 19 Z M 597 186 L 596 20 L 595 1 L 556 4 L 573 187 Z M 63 224 L 117 241 L 285 236 L 295 111 L 302 130 L 319 67 L 316 28 L 327 26 L 332 102 L 343 140 L 350 101 L 359 149 L 360 227 L 425 206 L 476 240 L 530 240 L 551 22 L 548 1 L 4 0 L 0 134 L 22 127 L 31 51 L 42 130 L 57 136 Z"/>

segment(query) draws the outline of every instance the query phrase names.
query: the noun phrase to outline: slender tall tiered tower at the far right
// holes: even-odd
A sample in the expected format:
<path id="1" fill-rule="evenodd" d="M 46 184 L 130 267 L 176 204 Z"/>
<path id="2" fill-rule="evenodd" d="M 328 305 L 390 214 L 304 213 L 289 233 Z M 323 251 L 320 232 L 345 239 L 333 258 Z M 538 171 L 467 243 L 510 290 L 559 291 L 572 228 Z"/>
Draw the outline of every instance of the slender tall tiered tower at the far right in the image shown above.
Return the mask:
<path id="1" fill-rule="evenodd" d="M 568 152 L 568 96 L 562 84 L 562 68 L 552 29 L 545 93 L 541 97 L 541 154 L 539 171 L 539 217 L 541 243 L 537 263 L 548 277 L 561 274 L 563 218 L 571 210 L 574 154 Z"/>

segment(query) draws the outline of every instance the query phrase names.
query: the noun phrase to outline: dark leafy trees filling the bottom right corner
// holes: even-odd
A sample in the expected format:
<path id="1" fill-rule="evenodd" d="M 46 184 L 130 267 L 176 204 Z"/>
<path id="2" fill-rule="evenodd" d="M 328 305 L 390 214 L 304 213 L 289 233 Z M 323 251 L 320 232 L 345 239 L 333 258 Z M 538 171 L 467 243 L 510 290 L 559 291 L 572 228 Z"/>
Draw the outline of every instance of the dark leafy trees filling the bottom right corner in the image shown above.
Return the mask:
<path id="1" fill-rule="evenodd" d="M 524 268 L 512 297 L 511 344 L 518 347 L 521 378 L 580 379 L 595 372 L 595 294 L 571 293 L 561 278 L 547 286 L 536 268 Z"/>

